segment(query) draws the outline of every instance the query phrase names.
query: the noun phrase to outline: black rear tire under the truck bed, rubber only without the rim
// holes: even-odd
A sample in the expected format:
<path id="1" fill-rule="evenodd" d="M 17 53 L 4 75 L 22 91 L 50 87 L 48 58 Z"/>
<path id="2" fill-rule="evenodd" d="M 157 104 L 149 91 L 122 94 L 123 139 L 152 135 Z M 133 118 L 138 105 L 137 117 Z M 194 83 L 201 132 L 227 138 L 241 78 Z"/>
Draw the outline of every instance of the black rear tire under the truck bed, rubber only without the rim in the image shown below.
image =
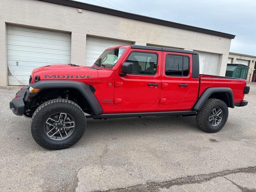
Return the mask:
<path id="1" fill-rule="evenodd" d="M 214 108 L 220 108 L 223 112 L 223 117 L 217 126 L 212 126 L 209 122 L 210 113 Z M 208 99 L 202 108 L 196 114 L 196 122 L 201 130 L 208 133 L 218 132 L 223 128 L 228 119 L 228 106 L 225 102 L 219 99 Z"/>

